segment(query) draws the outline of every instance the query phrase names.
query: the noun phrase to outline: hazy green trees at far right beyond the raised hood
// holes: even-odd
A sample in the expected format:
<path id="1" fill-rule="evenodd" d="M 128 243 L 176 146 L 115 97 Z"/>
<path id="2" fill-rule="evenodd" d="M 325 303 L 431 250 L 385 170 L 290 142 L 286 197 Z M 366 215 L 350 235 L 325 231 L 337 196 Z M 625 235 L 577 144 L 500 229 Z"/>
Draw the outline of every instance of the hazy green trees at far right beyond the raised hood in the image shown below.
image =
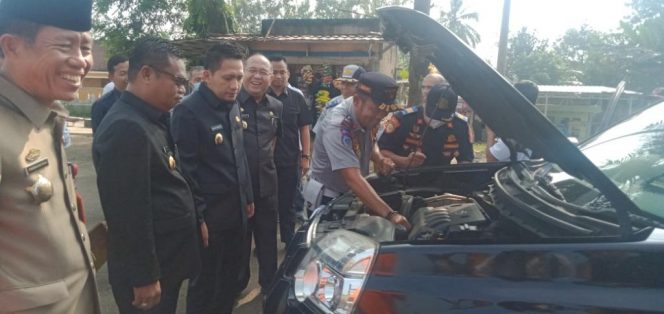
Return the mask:
<path id="1" fill-rule="evenodd" d="M 664 83 L 664 1 L 633 0 L 615 33 L 581 26 L 555 44 L 522 29 L 510 38 L 508 76 L 540 84 L 615 86 L 650 93 Z"/>

